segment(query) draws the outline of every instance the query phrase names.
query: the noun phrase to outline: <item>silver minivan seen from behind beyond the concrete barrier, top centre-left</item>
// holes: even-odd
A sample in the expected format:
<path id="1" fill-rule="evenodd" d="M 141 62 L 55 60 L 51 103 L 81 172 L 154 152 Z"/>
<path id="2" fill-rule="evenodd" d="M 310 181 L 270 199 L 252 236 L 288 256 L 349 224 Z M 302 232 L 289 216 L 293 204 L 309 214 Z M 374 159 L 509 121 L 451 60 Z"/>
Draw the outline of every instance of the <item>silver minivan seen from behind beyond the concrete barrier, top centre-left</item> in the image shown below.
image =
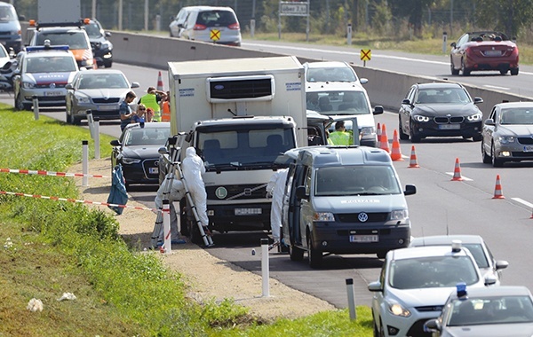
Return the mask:
<path id="1" fill-rule="evenodd" d="M 241 46 L 241 26 L 231 7 L 187 7 L 180 37 L 188 40 Z"/>

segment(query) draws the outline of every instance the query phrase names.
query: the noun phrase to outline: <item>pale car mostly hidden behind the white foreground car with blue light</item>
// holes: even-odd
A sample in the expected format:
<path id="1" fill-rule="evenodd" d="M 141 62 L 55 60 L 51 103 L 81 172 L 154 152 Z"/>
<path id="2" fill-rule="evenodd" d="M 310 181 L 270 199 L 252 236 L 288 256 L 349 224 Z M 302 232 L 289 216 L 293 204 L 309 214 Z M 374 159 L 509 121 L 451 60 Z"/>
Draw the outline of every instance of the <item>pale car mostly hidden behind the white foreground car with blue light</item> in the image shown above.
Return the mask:
<path id="1" fill-rule="evenodd" d="M 496 260 L 479 235 L 435 235 L 413 238 L 410 247 L 449 246 L 454 240 L 461 241 L 463 247 L 470 251 L 483 277 L 492 276 L 497 279 L 499 285 L 502 277 L 501 272 L 509 266 L 509 263 L 504 260 Z"/>

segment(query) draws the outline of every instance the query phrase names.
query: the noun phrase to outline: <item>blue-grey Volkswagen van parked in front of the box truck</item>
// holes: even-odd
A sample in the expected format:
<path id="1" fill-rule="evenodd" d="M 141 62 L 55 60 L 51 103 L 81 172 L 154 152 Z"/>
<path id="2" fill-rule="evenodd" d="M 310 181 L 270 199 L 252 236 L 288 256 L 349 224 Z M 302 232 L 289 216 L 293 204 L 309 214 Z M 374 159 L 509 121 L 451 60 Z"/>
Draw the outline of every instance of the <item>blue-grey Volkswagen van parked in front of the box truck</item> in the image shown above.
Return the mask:
<path id="1" fill-rule="evenodd" d="M 410 218 L 389 153 L 368 146 L 308 146 L 294 162 L 282 200 L 282 239 L 290 259 L 317 268 L 327 254 L 377 254 L 408 247 Z"/>

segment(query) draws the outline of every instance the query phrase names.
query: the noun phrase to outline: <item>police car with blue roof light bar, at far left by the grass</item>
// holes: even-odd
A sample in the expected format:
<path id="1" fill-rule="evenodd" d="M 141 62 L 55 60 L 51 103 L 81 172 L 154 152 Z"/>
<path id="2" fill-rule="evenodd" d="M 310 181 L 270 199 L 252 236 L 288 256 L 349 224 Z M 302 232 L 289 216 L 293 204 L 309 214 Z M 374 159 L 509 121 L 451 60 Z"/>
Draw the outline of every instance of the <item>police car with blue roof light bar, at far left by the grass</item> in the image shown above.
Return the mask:
<path id="1" fill-rule="evenodd" d="M 27 47 L 13 76 L 15 108 L 30 110 L 34 96 L 39 106 L 65 106 L 65 86 L 78 70 L 67 45 Z"/>

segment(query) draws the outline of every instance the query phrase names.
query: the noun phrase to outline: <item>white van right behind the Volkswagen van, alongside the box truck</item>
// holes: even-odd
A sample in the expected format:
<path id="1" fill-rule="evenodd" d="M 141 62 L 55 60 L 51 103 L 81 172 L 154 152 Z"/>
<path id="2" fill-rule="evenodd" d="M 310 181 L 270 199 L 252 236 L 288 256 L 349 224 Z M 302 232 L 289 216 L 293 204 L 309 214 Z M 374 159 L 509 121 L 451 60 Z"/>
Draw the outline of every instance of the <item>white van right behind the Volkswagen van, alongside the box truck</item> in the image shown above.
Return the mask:
<path id="1" fill-rule="evenodd" d="M 306 82 L 306 107 L 326 116 L 356 117 L 361 145 L 375 147 L 378 141 L 374 114 L 383 114 L 383 106 L 371 109 L 369 95 L 354 82 Z"/>

